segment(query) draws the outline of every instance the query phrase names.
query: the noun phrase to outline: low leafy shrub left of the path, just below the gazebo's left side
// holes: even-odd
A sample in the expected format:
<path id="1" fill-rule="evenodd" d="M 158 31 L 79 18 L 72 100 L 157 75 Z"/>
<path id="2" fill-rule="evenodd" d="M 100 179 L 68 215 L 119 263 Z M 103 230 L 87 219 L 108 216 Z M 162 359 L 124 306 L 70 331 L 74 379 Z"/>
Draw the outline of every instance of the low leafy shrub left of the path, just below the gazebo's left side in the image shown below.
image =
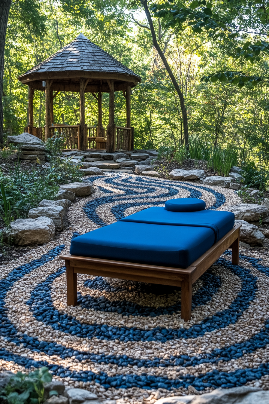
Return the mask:
<path id="1" fill-rule="evenodd" d="M 52 166 L 46 168 L 45 178 L 50 184 L 66 184 L 68 182 L 81 182 L 83 174 L 79 171 L 80 164 L 73 164 L 71 158 L 67 160 L 61 160 L 60 158 L 54 158 Z"/>

